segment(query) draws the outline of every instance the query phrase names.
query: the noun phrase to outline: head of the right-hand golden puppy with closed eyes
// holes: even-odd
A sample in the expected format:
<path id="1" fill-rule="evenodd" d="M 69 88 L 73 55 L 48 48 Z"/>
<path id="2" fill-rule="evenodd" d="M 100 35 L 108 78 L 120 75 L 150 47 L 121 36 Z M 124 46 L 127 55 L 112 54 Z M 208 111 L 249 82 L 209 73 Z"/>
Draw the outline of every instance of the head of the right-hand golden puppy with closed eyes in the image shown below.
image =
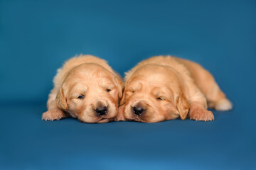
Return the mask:
<path id="1" fill-rule="evenodd" d="M 154 123 L 186 119 L 189 103 L 178 73 L 168 66 L 147 64 L 127 80 L 120 101 L 120 120 Z"/>

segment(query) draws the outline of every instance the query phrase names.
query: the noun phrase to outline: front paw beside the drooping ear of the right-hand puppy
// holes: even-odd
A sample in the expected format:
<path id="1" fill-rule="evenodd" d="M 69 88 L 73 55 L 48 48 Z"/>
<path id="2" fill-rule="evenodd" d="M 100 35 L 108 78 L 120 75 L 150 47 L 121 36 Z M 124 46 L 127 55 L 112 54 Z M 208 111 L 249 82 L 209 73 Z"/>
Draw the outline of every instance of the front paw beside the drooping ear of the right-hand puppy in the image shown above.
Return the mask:
<path id="1" fill-rule="evenodd" d="M 189 117 L 190 119 L 201 121 L 214 120 L 213 113 L 200 106 L 191 107 L 189 110 Z"/>

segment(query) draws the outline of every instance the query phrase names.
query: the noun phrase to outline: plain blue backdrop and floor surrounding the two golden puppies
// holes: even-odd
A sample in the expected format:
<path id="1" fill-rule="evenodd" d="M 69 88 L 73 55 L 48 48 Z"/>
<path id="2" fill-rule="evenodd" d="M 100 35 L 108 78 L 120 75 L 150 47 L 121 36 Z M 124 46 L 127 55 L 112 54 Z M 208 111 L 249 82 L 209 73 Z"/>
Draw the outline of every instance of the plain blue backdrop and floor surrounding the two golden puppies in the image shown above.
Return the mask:
<path id="1" fill-rule="evenodd" d="M 41 114 L 79 54 L 120 74 L 153 55 L 208 69 L 234 103 L 213 122 L 85 124 Z M 256 169 L 256 1 L 0 0 L 0 169 Z"/>

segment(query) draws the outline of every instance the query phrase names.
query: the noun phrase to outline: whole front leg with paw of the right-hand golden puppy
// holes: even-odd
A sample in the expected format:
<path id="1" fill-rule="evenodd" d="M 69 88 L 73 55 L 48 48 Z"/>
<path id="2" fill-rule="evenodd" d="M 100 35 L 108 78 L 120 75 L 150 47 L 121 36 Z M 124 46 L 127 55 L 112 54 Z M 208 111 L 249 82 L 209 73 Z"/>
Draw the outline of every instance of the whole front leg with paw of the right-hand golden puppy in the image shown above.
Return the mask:
<path id="1" fill-rule="evenodd" d="M 214 120 L 213 113 L 211 111 L 207 111 L 206 98 L 203 96 L 198 87 L 193 84 L 193 81 L 189 83 L 188 91 L 189 96 L 191 96 L 188 118 L 203 121 Z"/>

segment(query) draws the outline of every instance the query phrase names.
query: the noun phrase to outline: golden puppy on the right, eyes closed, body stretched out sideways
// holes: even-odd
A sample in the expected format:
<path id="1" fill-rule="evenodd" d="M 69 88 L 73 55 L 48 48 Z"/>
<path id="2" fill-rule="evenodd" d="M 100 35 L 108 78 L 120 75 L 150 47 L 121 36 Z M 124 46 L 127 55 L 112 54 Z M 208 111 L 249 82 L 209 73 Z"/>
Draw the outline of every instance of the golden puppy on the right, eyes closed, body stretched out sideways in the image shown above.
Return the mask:
<path id="1" fill-rule="evenodd" d="M 218 111 L 232 108 L 206 69 L 176 57 L 151 57 L 126 73 L 116 120 L 214 120 L 207 106 Z"/>

